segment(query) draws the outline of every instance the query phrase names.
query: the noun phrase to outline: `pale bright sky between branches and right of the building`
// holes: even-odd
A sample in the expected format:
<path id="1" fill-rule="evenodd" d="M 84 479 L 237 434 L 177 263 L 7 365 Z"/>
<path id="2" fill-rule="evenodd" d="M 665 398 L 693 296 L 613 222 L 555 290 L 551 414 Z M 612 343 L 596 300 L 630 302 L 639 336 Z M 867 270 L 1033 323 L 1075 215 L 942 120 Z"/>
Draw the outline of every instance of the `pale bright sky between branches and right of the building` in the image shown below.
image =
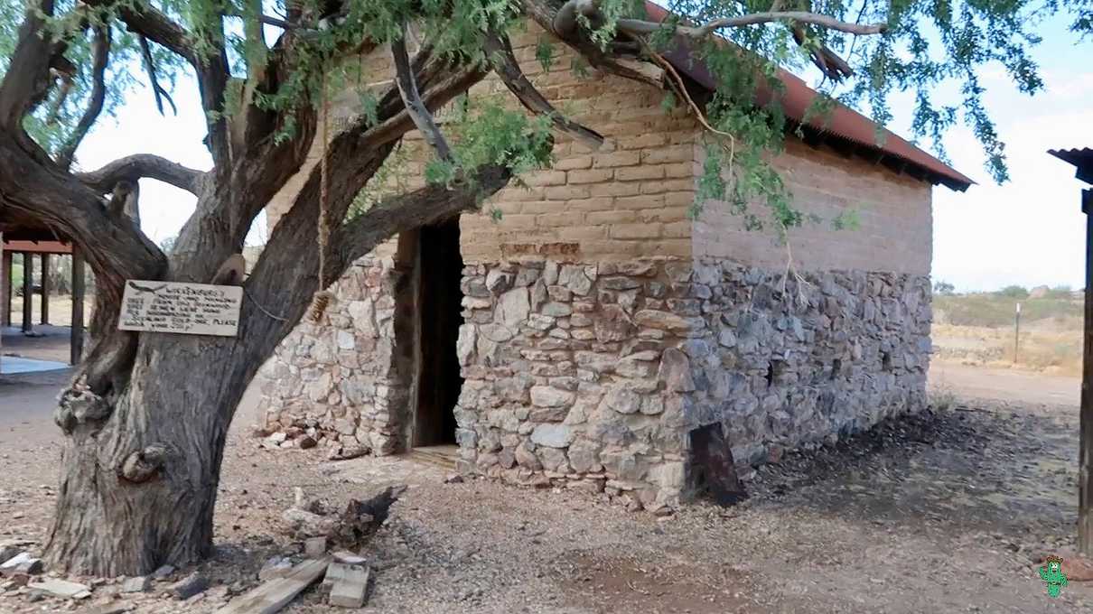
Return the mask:
<path id="1" fill-rule="evenodd" d="M 952 165 L 977 185 L 966 192 L 933 189 L 935 281 L 959 292 L 997 290 L 1010 284 L 1084 286 L 1084 226 L 1073 167 L 1048 155 L 1049 149 L 1093 147 L 1093 40 L 1074 45 L 1063 20 L 1042 29 L 1044 43 L 1034 54 L 1042 67 L 1044 91 L 1021 94 L 1000 66 L 985 67 L 986 106 L 1007 144 L 1011 180 L 997 185 L 983 166 L 983 151 L 969 129 L 955 127 L 945 137 Z M 78 152 L 82 169 L 133 154 L 153 153 L 192 168 L 211 166 L 202 144 L 205 129 L 197 87 L 179 79 L 174 99 L 178 116 L 161 117 L 151 92 L 138 88 L 105 118 Z M 892 101 L 894 132 L 909 137 L 912 98 Z M 141 222 L 156 243 L 176 235 L 193 213 L 195 199 L 158 181 L 141 180 Z M 256 221 L 247 243 L 267 236 L 265 216 Z"/>

